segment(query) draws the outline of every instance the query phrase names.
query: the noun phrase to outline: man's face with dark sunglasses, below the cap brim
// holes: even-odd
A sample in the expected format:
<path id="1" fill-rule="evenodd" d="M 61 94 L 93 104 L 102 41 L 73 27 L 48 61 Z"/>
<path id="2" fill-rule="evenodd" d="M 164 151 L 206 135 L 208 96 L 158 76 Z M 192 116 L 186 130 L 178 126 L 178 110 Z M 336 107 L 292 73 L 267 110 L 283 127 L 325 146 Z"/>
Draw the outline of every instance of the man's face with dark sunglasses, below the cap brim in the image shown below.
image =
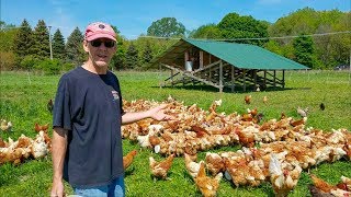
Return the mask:
<path id="1" fill-rule="evenodd" d="M 84 50 L 89 53 L 89 59 L 98 67 L 107 67 L 114 53 L 116 43 L 107 38 L 84 40 Z"/>

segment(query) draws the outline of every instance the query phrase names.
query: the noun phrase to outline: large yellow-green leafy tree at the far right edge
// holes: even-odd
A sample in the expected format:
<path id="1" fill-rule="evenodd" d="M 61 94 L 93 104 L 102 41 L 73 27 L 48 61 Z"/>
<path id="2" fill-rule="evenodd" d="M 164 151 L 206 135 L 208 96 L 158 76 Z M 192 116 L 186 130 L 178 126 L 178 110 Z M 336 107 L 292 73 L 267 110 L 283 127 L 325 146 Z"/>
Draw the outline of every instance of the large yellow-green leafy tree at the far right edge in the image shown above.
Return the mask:
<path id="1" fill-rule="evenodd" d="M 331 32 L 344 32 L 350 30 L 351 12 L 339 10 L 315 11 L 304 8 L 279 19 L 270 25 L 269 34 L 274 36 L 290 36 L 305 34 L 324 34 Z M 314 55 L 318 63 L 325 68 L 332 68 L 339 63 L 348 62 L 351 48 L 350 34 L 336 34 L 314 36 Z M 278 39 L 281 48 L 291 44 L 290 38 Z M 284 50 L 284 49 L 283 49 Z"/>

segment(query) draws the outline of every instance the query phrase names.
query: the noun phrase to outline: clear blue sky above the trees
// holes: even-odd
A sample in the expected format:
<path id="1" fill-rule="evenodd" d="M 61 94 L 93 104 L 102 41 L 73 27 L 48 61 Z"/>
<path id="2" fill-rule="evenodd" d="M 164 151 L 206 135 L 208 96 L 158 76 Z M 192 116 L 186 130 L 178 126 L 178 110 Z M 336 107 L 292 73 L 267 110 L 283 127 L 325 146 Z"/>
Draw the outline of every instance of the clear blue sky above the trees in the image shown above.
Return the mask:
<path id="1" fill-rule="evenodd" d="M 176 18 L 186 30 L 218 23 L 236 12 L 274 23 L 305 7 L 315 10 L 351 10 L 351 0 L 1 0 L 1 21 L 20 25 L 26 19 L 32 27 L 38 20 L 59 28 L 65 37 L 78 26 L 84 31 L 94 21 L 115 25 L 128 39 L 146 34 L 154 21 Z"/>

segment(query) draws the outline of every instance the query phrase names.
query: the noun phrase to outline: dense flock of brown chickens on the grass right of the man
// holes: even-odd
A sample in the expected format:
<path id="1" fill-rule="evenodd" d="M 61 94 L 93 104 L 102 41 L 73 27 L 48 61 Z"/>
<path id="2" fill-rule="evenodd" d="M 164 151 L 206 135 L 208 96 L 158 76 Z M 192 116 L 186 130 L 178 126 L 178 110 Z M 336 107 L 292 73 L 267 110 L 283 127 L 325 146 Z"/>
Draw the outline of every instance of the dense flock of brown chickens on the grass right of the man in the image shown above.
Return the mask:
<path id="1" fill-rule="evenodd" d="M 165 113 L 174 120 L 144 119 L 122 127 L 123 138 L 167 155 L 165 161 L 149 159 L 155 177 L 167 178 L 174 157 L 184 157 L 185 167 L 204 196 L 215 196 L 223 176 L 236 186 L 258 186 L 270 182 L 276 196 L 286 196 L 297 184 L 303 170 L 322 162 L 351 160 L 351 132 L 347 129 L 324 132 L 306 128 L 307 117 L 294 119 L 281 115 L 259 125 L 257 109 L 239 115 L 217 113 L 222 101 L 208 111 L 196 104 L 184 106 L 169 97 Z M 126 112 L 146 111 L 159 105 L 152 101 L 124 101 Z M 196 161 L 199 151 L 215 147 L 242 144 L 235 152 L 207 152 L 205 161 Z M 134 154 L 135 155 L 135 154 Z M 128 165 L 133 157 L 128 160 Z M 127 162 L 127 161 L 124 161 Z M 207 176 L 206 171 L 210 172 Z M 350 196 L 351 179 L 342 176 L 336 186 L 312 175 L 314 194 Z M 325 186 L 328 185 L 329 189 Z"/>

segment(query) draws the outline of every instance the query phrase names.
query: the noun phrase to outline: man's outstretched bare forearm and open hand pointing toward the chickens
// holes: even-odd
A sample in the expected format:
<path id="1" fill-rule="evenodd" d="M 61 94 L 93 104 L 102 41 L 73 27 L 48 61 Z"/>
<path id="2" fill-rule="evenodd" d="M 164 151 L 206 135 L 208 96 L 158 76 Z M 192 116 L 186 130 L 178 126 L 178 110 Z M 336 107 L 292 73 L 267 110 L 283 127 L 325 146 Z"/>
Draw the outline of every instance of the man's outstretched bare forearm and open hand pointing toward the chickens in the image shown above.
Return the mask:
<path id="1" fill-rule="evenodd" d="M 163 109 L 167 107 L 166 104 L 162 104 L 160 106 L 157 106 L 155 108 L 150 108 L 149 111 L 145 112 L 137 112 L 137 113 L 125 113 L 122 116 L 122 124 L 131 124 L 138 121 L 144 118 L 154 118 L 156 120 L 169 120 L 173 119 L 172 116 L 169 116 L 163 113 Z"/>

